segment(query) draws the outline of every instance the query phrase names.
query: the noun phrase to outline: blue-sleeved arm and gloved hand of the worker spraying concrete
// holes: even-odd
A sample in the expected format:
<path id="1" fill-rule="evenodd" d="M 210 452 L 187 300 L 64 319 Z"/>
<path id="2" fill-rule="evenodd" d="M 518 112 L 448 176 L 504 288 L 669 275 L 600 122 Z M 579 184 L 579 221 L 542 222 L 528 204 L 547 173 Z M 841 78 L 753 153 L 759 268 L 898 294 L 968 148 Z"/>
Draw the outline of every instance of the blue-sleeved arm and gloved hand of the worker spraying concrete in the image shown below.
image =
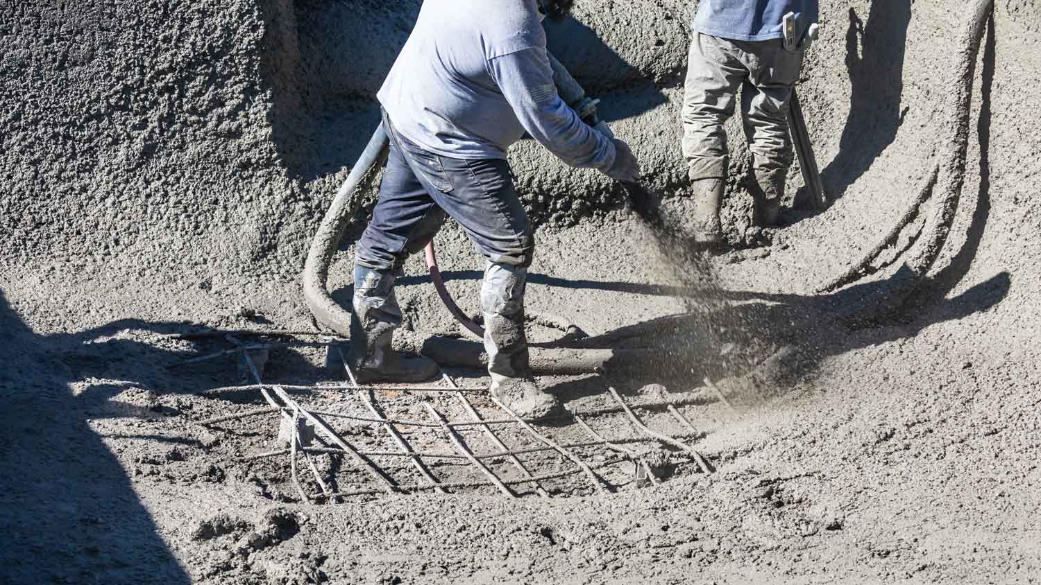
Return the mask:
<path id="1" fill-rule="evenodd" d="M 557 94 L 544 49 L 525 49 L 488 61 L 499 89 L 520 125 L 560 160 L 635 181 L 639 165 L 628 145 L 593 130 Z"/>

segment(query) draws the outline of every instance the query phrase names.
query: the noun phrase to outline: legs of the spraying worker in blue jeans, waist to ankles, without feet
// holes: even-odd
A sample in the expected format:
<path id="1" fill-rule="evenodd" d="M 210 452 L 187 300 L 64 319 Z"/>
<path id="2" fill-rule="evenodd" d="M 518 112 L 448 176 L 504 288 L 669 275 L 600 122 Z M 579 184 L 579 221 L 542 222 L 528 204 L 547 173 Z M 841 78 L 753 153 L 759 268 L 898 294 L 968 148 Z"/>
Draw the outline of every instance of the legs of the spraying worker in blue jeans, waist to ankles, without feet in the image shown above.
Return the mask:
<path id="1" fill-rule="evenodd" d="M 389 344 L 386 334 L 401 323 L 393 270 L 433 239 L 447 214 L 486 260 L 481 309 L 488 371 L 493 377 L 525 375 L 524 292 L 534 238 L 509 164 L 438 156 L 398 134 L 386 114 L 383 124 L 390 153 L 355 256 L 356 356 L 364 367 L 359 353 L 374 360 Z"/>

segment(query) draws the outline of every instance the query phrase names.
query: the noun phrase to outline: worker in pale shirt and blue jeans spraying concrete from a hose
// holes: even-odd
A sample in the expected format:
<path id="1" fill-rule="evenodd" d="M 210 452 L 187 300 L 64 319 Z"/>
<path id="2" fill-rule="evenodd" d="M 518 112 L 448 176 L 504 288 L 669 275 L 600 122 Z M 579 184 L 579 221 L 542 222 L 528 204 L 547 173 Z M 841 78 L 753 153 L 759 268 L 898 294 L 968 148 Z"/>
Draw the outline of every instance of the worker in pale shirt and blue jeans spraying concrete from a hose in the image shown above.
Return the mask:
<path id="1" fill-rule="evenodd" d="M 531 378 L 524 296 L 534 239 L 506 150 L 527 131 L 567 164 L 635 181 L 629 147 L 580 119 L 557 94 L 541 18 L 570 1 L 427 0 L 378 94 L 390 154 L 358 243 L 352 340 L 367 380 L 418 381 L 437 366 L 390 347 L 401 324 L 395 268 L 451 216 L 485 258 L 481 286 L 490 392 L 522 416 L 556 399 Z"/>

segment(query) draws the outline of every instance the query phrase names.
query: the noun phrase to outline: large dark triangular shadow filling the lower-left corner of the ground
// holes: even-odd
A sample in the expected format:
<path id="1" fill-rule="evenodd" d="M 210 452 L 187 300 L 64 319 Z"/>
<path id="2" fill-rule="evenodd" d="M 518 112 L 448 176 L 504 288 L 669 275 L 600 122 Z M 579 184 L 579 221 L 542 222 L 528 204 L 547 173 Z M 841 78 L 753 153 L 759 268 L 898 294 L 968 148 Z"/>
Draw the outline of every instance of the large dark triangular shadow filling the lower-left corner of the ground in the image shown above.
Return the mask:
<path id="1" fill-rule="evenodd" d="M 0 290 L 0 581 L 189 583 L 74 396 L 79 379 Z"/>

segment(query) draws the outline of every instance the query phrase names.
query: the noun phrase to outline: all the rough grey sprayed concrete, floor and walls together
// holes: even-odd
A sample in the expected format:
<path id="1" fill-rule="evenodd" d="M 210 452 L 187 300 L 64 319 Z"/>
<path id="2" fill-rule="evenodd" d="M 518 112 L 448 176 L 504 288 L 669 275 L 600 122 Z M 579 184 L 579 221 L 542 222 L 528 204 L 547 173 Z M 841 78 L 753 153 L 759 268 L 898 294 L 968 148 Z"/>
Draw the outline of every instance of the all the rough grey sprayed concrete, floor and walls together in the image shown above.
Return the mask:
<path id="1" fill-rule="evenodd" d="M 4 3 L 0 581 L 1036 581 L 1041 5 L 995 3 L 963 205 L 929 286 L 897 314 L 850 327 L 835 307 L 892 270 L 813 291 L 882 238 L 929 170 L 965 15 L 951 0 L 823 4 L 798 89 L 835 202 L 819 214 L 787 209 L 769 245 L 746 244 L 735 123 L 723 215 L 740 245 L 693 280 L 619 188 L 531 141 L 511 153 L 539 224 L 530 311 L 594 336 L 642 333 L 625 343 L 655 338 L 661 349 L 650 372 L 547 383 L 594 407 L 608 383 L 636 400 L 648 383 L 700 393 L 705 375 L 723 379 L 734 409 L 683 408 L 715 474 L 679 466 L 660 486 L 607 496 L 576 477 L 550 500 L 474 489 L 307 505 L 284 460 L 233 460 L 274 447 L 273 418 L 193 423 L 254 404 L 201 394 L 237 383 L 230 360 L 168 368 L 223 347 L 171 334 L 311 329 L 303 256 L 378 121 L 371 96 L 418 3 Z M 667 195 L 683 188 L 678 108 L 694 8 L 589 0 L 550 26 L 554 51 Z M 793 168 L 789 205 L 801 185 Z M 437 245 L 449 288 L 474 312 L 478 258 L 451 224 Z M 333 270 L 340 299 L 350 252 Z M 456 334 L 418 259 L 406 273 L 403 339 Z M 686 311 L 694 317 L 667 335 L 649 324 Z M 781 347 L 791 357 L 751 383 Z M 275 352 L 268 375 L 330 379 L 309 350 Z M 422 411 L 406 395 L 381 401 Z M 618 417 L 593 423 L 634 433 Z M 666 417 L 649 423 L 677 431 Z"/>

